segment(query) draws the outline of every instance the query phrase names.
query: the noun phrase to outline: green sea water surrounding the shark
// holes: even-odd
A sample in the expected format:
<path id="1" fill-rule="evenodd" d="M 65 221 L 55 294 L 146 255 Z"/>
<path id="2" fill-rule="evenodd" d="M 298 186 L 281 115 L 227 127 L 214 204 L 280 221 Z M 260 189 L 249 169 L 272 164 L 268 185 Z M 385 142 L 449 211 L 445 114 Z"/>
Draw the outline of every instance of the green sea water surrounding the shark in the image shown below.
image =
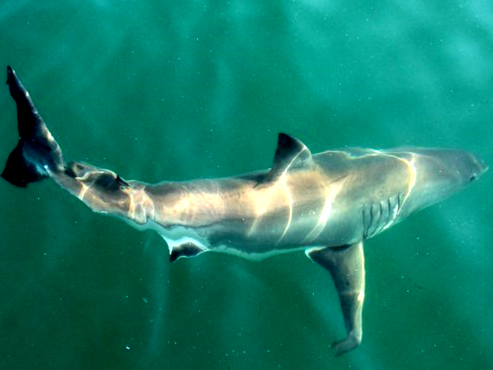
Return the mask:
<path id="1" fill-rule="evenodd" d="M 179 5 L 177 5 L 179 4 Z M 0 68 L 65 158 L 149 182 L 313 152 L 451 146 L 493 163 L 491 1 L 0 3 Z M 0 90 L 0 162 L 17 141 Z M 169 264 L 47 181 L 0 182 L 0 369 L 488 369 L 491 174 L 366 244 L 365 335 L 303 253 Z"/>

